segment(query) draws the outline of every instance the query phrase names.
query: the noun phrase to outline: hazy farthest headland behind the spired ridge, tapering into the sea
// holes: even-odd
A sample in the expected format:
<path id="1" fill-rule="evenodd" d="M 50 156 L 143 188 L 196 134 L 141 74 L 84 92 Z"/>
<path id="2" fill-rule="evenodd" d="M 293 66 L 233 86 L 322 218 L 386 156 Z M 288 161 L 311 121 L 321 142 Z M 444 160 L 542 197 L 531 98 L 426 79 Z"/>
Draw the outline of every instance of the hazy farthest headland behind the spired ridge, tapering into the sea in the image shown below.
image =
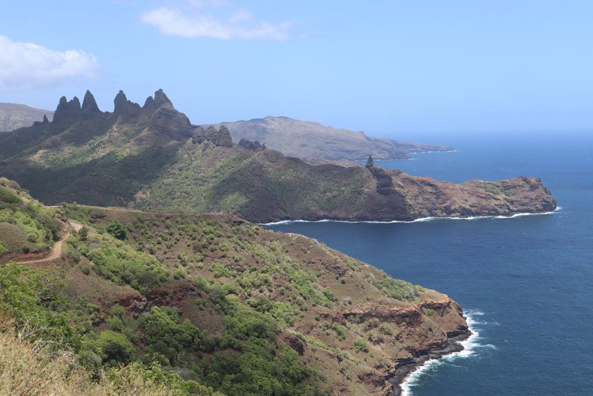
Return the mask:
<path id="1" fill-rule="evenodd" d="M 204 127 L 208 127 L 206 125 Z M 257 140 L 287 156 L 301 159 L 350 160 L 409 159 L 414 152 L 446 152 L 453 147 L 372 138 L 363 132 L 336 129 L 318 122 L 289 117 L 265 117 L 213 124 L 226 126 L 235 141 Z"/>

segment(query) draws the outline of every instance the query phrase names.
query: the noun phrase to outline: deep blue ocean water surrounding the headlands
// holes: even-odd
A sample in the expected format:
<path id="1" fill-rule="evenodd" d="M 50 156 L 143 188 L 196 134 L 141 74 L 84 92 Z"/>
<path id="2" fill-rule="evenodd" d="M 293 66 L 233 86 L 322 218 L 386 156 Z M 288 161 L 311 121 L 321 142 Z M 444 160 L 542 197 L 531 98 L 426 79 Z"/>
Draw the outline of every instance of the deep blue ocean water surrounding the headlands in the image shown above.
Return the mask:
<path id="1" fill-rule="evenodd" d="M 414 375 L 408 393 L 593 395 L 593 134 L 439 142 L 458 151 L 377 165 L 451 182 L 541 177 L 562 209 L 513 219 L 270 228 L 314 237 L 464 307 L 477 334 L 469 351 Z"/>

